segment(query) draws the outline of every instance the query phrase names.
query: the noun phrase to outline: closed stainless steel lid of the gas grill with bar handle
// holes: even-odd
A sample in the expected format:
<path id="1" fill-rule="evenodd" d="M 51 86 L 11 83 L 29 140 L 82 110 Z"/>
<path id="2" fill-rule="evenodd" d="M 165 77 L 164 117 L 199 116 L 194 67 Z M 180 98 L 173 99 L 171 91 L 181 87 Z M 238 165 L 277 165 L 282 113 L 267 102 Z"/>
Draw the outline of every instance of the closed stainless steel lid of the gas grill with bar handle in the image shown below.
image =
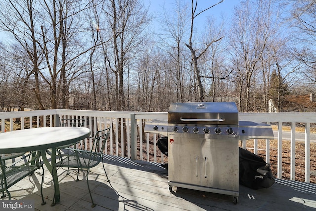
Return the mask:
<path id="1" fill-rule="evenodd" d="M 171 103 L 168 123 L 238 125 L 234 102 Z"/>

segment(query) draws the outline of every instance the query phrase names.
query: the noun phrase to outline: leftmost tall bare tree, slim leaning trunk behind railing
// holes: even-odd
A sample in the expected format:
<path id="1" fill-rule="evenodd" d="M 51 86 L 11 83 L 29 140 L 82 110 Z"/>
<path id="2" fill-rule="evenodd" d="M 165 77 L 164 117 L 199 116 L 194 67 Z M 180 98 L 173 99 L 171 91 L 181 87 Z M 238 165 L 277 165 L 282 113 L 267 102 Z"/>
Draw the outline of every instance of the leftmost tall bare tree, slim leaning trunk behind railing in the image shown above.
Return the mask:
<path id="1" fill-rule="evenodd" d="M 33 0 L 3 0 L 0 2 L 0 28 L 12 35 L 12 38 L 25 50 L 32 63 L 32 74 L 35 77 L 33 91 L 37 97 L 39 108 L 44 109 L 40 99 L 40 64 L 42 51 L 38 40 L 40 34 L 37 27 L 39 11 Z"/>

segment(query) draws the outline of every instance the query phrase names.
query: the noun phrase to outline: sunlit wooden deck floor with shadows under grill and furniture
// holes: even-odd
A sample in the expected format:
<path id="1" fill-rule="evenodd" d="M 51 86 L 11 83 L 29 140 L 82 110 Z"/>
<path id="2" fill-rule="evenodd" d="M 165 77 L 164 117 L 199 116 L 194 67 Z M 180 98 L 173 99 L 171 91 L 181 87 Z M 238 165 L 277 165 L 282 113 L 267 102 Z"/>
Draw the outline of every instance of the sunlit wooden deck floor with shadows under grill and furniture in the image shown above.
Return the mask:
<path id="1" fill-rule="evenodd" d="M 40 205 L 41 176 L 32 175 L 31 181 L 24 179 L 10 188 L 14 199 L 35 200 L 36 211 L 254 211 L 254 210 L 316 210 L 316 184 L 276 179 L 268 188 L 252 190 L 239 187 L 239 199 L 235 205 L 233 197 L 173 187 L 168 190 L 167 170 L 159 164 L 146 161 L 106 156 L 106 169 L 110 183 L 106 181 L 102 164 L 89 173 L 90 187 L 96 207 L 91 208 L 87 191 L 85 171 L 76 182 L 76 171 L 61 174 L 61 201 L 51 207 L 53 185 L 50 174 L 45 171 L 44 196 L 46 205 Z M 4 198 L 4 200 L 7 198 Z"/>

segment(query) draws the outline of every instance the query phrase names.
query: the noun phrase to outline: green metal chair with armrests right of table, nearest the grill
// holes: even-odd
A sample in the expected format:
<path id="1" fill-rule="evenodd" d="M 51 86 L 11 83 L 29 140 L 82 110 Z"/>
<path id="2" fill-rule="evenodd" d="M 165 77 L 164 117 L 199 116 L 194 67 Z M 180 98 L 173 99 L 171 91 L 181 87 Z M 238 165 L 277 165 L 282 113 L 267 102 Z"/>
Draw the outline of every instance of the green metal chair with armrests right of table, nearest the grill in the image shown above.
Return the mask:
<path id="1" fill-rule="evenodd" d="M 66 150 L 69 151 L 69 154 L 63 154 L 61 156 L 60 161 L 56 163 L 56 167 L 77 168 L 78 171 L 77 171 L 76 181 L 78 181 L 79 169 L 87 169 L 86 180 L 87 180 L 88 190 L 89 190 L 89 194 L 92 201 L 91 207 L 95 207 L 95 204 L 92 198 L 91 190 L 89 187 L 89 180 L 88 180 L 88 173 L 89 173 L 90 168 L 97 166 L 102 161 L 102 165 L 103 165 L 105 175 L 107 177 L 107 181 L 109 181 L 109 178 L 108 178 L 108 175 L 103 163 L 103 151 L 105 148 L 106 141 L 109 138 L 110 128 L 111 127 L 104 130 L 99 130 L 95 133 L 90 151 L 67 148 Z"/>

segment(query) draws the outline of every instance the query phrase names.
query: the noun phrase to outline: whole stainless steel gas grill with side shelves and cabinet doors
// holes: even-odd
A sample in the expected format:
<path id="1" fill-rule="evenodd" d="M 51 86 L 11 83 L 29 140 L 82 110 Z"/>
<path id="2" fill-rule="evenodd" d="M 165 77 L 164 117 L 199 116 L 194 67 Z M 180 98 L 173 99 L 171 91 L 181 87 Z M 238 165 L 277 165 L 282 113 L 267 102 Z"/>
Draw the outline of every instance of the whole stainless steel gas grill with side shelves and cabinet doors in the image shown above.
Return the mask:
<path id="1" fill-rule="evenodd" d="M 244 121 L 233 102 L 171 103 L 168 120 L 146 123 L 144 131 L 168 136 L 172 186 L 239 196 L 238 140 L 273 139 L 271 126 Z M 240 130 L 241 129 L 241 130 Z"/>

